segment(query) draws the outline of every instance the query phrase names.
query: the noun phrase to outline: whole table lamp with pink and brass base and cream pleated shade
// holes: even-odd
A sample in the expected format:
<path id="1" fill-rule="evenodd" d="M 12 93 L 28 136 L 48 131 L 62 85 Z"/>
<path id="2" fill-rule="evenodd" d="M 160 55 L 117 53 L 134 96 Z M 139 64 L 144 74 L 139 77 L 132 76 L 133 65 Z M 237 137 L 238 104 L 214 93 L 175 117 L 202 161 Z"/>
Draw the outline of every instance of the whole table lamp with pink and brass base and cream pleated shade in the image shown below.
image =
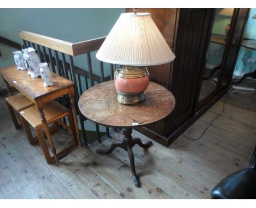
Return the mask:
<path id="1" fill-rule="evenodd" d="M 123 13 L 96 53 L 102 62 L 121 65 L 115 70 L 118 101 L 132 105 L 145 99 L 147 66 L 166 64 L 175 56 L 149 13 Z"/>

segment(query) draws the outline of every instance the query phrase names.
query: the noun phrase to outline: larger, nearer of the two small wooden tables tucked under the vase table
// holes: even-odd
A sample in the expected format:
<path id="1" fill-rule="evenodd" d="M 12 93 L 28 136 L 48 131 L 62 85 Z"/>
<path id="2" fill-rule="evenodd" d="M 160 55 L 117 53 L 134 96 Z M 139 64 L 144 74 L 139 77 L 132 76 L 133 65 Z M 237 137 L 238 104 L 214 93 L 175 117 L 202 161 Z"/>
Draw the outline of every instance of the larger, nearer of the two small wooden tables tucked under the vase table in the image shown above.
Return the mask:
<path id="1" fill-rule="evenodd" d="M 24 109 L 20 111 L 21 121 L 24 125 L 24 129 L 26 131 L 28 140 L 33 140 L 32 133 L 28 124 L 30 124 L 37 132 L 37 137 L 40 143 L 40 146 L 44 152 L 45 159 L 47 163 L 52 162 L 54 159 L 59 161 L 59 157 L 65 155 L 68 151 L 72 150 L 76 146 L 78 146 L 78 140 L 75 134 L 75 127 L 74 121 L 71 112 L 66 107 L 62 106 L 57 101 L 51 101 L 46 103 L 44 106 L 44 114 L 45 119 L 48 125 L 55 124 L 55 128 L 51 129 L 50 132 L 53 133 L 56 130 L 59 130 L 59 125 L 56 123 L 61 124 L 65 129 L 71 131 L 73 144 L 68 146 L 67 148 L 61 150 L 60 152 L 56 153 L 56 149 L 54 147 L 54 143 L 52 140 L 48 140 L 51 151 L 53 152 L 54 156 L 50 156 L 50 152 L 48 150 L 48 146 L 45 142 L 45 134 L 43 133 L 43 123 L 40 119 L 40 115 L 36 106 Z M 69 126 L 61 121 L 62 118 L 68 117 Z"/>

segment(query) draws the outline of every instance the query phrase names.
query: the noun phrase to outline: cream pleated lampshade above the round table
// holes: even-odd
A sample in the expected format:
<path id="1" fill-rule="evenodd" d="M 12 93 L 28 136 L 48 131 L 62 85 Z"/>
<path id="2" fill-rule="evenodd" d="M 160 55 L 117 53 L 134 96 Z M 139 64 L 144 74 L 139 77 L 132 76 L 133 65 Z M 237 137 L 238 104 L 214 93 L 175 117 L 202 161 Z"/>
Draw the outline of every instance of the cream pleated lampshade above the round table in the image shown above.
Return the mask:
<path id="1" fill-rule="evenodd" d="M 124 13 L 96 57 L 112 64 L 151 66 L 169 63 L 175 55 L 149 13 Z"/>

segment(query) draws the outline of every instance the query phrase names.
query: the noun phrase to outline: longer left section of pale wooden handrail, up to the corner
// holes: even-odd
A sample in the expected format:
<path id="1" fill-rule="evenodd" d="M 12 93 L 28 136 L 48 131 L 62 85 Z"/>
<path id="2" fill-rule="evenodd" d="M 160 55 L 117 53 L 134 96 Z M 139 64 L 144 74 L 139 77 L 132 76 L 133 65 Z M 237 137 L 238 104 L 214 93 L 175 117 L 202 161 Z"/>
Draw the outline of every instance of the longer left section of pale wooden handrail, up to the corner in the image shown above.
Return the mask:
<path id="1" fill-rule="evenodd" d="M 48 36 L 39 35 L 36 33 L 18 31 L 18 35 L 21 39 L 34 42 L 35 44 L 52 48 L 56 51 L 69 54 L 73 56 L 72 42 L 67 42 L 55 38 L 50 38 Z"/>

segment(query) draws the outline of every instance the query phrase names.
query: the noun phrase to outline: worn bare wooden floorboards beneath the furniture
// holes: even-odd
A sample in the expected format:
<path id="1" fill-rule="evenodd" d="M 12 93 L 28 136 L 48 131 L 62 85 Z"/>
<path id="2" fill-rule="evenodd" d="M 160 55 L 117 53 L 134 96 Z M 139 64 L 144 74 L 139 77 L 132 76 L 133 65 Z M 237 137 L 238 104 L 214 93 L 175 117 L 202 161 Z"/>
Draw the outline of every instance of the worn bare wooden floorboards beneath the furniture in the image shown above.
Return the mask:
<path id="1" fill-rule="evenodd" d="M 256 138 L 256 94 L 230 94 L 225 112 L 199 140 L 179 137 L 169 148 L 153 141 L 147 151 L 136 145 L 136 171 L 141 188 L 133 185 L 127 152 L 98 155 L 122 139 L 120 132 L 91 146 L 75 149 L 59 164 L 47 164 L 39 145 L 30 145 L 15 130 L 4 97 L 0 99 L 0 199 L 209 199 L 211 189 L 226 175 L 249 164 Z M 200 136 L 222 112 L 216 103 L 186 132 Z M 133 135 L 149 140 L 133 131 Z M 68 145 L 68 132 L 54 134 L 55 144 Z"/>

